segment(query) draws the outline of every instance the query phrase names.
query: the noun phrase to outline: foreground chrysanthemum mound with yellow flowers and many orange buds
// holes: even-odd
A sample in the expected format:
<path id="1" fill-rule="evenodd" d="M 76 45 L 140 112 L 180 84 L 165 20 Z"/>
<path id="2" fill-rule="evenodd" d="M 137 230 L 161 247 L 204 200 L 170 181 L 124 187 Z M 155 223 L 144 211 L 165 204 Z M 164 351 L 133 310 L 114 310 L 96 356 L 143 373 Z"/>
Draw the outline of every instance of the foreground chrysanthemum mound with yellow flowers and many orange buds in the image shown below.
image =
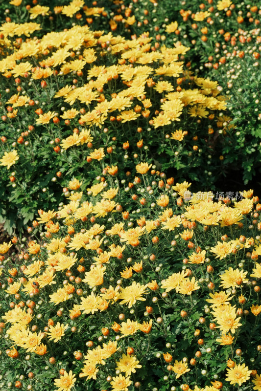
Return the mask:
<path id="1" fill-rule="evenodd" d="M 261 390 L 258 197 L 116 169 L 0 244 L 1 388 Z"/>

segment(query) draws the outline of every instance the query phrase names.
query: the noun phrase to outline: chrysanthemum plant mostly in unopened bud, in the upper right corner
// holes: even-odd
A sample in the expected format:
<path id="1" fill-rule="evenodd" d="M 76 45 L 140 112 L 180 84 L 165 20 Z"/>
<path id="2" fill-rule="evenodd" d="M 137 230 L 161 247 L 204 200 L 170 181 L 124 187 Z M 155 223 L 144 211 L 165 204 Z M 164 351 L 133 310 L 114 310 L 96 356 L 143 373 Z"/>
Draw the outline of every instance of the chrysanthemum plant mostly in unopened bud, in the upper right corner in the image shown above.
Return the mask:
<path id="1" fill-rule="evenodd" d="M 261 170 L 260 4 L 240 0 L 134 1 L 132 12 L 136 18 L 132 34 L 150 28 L 155 47 L 177 42 L 189 46 L 186 67 L 197 76 L 218 81 L 228 105 L 213 135 L 220 161 L 212 157 L 208 163 L 220 167 L 219 182 L 222 176 L 236 177 L 245 184 L 253 180 Z"/>

